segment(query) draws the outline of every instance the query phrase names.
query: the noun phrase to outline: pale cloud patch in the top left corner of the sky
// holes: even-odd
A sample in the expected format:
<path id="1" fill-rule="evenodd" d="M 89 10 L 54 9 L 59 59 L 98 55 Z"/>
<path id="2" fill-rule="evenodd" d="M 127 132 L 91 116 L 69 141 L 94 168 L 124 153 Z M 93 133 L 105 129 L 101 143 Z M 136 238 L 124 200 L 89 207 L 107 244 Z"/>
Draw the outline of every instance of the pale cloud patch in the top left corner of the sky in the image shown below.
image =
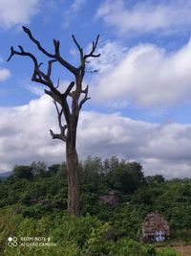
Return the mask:
<path id="1" fill-rule="evenodd" d="M 0 27 L 9 29 L 30 22 L 38 12 L 39 0 L 0 0 Z"/>

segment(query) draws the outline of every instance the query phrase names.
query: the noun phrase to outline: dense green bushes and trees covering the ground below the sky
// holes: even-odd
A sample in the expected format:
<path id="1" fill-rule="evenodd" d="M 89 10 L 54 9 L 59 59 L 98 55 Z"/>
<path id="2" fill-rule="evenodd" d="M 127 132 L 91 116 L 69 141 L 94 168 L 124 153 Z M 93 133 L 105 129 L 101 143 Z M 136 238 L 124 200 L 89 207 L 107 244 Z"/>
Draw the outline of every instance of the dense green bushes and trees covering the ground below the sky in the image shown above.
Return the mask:
<path id="1" fill-rule="evenodd" d="M 26 170 L 26 172 L 25 172 Z M 88 157 L 80 164 L 81 217 L 69 217 L 66 165 L 16 166 L 0 181 L 0 255 L 177 256 L 171 248 L 142 244 L 146 214 L 162 214 L 171 240 L 191 242 L 191 180 L 147 176 L 138 163 Z M 116 190 L 117 206 L 99 197 Z M 45 237 L 50 246 L 9 246 L 8 238 Z M 24 242 L 23 242 L 24 243 Z M 29 242 L 25 242 L 29 243 Z"/>

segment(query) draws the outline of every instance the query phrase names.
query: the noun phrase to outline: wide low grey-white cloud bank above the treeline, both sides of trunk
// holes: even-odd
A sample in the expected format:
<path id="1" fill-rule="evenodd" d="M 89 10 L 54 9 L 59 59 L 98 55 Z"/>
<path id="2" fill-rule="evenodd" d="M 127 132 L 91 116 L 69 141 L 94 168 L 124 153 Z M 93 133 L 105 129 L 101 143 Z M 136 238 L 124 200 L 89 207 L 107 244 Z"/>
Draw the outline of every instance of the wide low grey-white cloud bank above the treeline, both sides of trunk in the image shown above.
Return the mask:
<path id="1" fill-rule="evenodd" d="M 0 108 L 0 172 L 15 164 L 45 160 L 61 162 L 65 145 L 51 139 L 57 131 L 56 111 L 46 96 L 29 105 Z M 150 124 L 119 114 L 82 111 L 77 148 L 80 159 L 87 155 L 117 155 L 136 160 L 145 175 L 191 176 L 191 125 Z"/>

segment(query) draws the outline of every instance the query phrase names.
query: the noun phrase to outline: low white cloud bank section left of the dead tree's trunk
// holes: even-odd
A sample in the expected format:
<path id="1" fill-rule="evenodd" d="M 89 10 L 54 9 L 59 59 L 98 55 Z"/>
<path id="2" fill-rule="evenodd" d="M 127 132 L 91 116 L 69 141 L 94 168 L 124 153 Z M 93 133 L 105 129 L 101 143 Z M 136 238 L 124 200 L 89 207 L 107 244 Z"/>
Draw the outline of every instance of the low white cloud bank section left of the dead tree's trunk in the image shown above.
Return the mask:
<path id="1" fill-rule="evenodd" d="M 58 159 L 56 151 L 61 146 L 51 140 L 49 133 L 57 121 L 51 99 L 43 96 L 29 105 L 1 107 L 0 116 L 0 170 L 2 166 L 31 163 L 50 156 Z"/>

